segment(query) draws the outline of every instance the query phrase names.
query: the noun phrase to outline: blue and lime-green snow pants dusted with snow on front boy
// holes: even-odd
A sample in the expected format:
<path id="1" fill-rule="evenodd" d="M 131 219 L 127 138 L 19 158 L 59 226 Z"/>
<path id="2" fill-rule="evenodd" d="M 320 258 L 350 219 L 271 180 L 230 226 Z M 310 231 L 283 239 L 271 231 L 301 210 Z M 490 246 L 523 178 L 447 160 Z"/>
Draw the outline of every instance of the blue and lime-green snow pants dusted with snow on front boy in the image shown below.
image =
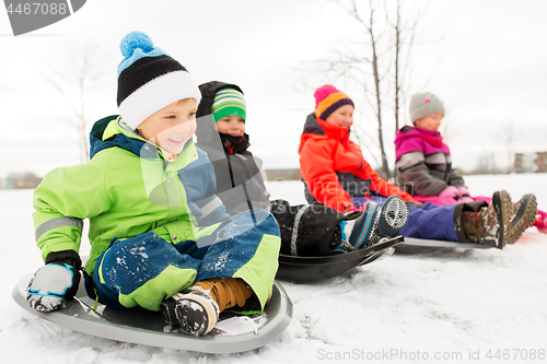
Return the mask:
<path id="1" fill-rule="evenodd" d="M 161 302 L 211 278 L 241 278 L 261 310 L 274 284 L 280 249 L 279 225 L 265 210 L 226 219 L 197 242 L 172 244 L 153 232 L 113 239 L 97 259 L 88 294 L 115 309 L 141 306 L 160 310 Z"/>

